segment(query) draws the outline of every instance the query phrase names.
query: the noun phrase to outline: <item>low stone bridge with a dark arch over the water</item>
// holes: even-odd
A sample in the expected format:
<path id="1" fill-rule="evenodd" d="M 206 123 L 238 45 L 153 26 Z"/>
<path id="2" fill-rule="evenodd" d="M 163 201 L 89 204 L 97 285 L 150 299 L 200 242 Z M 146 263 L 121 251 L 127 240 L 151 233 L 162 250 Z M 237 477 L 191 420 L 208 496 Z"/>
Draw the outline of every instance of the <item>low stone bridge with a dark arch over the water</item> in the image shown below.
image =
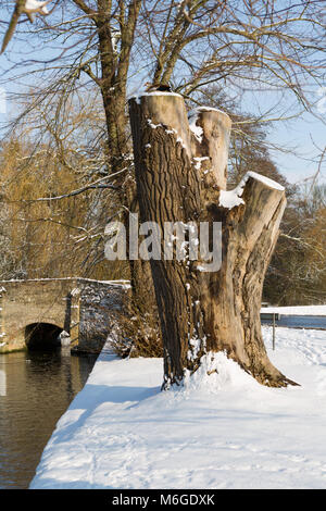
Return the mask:
<path id="1" fill-rule="evenodd" d="M 99 352 L 128 296 L 126 281 L 0 281 L 0 353 L 48 349 Z M 64 342 L 64 340 L 63 340 Z"/>

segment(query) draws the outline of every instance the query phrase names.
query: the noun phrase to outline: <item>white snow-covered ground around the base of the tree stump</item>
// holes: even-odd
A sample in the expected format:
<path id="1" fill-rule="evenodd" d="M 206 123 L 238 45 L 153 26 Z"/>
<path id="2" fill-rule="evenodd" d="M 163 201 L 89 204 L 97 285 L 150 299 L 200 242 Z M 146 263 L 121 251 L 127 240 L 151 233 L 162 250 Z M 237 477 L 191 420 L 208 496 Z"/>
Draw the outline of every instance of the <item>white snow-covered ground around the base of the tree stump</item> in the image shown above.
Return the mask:
<path id="1" fill-rule="evenodd" d="M 32 488 L 326 488 L 326 332 L 263 327 L 301 387 L 218 373 L 160 391 L 162 361 L 102 352 L 58 423 Z"/>

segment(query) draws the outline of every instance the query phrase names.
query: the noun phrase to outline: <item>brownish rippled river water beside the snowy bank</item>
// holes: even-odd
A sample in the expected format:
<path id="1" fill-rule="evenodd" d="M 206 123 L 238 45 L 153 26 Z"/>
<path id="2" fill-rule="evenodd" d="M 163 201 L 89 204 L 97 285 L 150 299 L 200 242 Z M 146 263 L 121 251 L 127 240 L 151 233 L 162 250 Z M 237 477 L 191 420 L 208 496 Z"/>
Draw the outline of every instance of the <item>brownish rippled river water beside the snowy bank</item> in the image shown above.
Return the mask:
<path id="1" fill-rule="evenodd" d="M 96 357 L 68 348 L 0 354 L 0 489 L 28 488 L 60 416 Z"/>

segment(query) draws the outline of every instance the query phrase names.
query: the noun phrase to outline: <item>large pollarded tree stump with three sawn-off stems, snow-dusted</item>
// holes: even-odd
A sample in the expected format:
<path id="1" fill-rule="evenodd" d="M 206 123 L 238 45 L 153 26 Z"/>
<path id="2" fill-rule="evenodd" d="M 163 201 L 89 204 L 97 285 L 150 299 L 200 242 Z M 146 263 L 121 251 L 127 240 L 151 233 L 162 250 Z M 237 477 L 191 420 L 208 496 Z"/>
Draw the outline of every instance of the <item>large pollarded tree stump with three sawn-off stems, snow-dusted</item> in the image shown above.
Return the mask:
<path id="1" fill-rule="evenodd" d="M 188 121 L 181 96 L 168 92 L 131 98 L 129 109 L 141 222 L 155 222 L 161 232 L 165 222 L 222 224 L 222 263 L 215 271 L 203 271 L 200 259 L 164 259 L 163 238 L 161 259 L 151 260 L 163 387 L 180 384 L 185 370 L 195 372 L 204 354 L 221 350 L 264 385 L 294 384 L 268 360 L 260 322 L 284 188 L 249 173 L 226 190 L 231 122 L 225 113 L 201 108 Z"/>

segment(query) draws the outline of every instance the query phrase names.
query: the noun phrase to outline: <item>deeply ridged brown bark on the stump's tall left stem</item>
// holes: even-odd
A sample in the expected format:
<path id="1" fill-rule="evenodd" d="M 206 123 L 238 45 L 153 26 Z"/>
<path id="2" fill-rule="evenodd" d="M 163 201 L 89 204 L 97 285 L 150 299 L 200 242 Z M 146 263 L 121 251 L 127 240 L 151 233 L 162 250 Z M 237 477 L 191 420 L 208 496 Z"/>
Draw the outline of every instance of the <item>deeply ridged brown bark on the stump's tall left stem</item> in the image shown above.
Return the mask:
<path id="1" fill-rule="evenodd" d="M 161 123 L 162 109 L 158 104 L 160 98 L 165 97 L 148 96 L 141 105 L 133 101 L 130 108 L 141 221 L 154 221 L 163 226 L 164 222 L 186 223 L 199 217 L 200 184 L 189 158 L 190 129 L 185 105 L 174 95 L 168 96 L 171 101 L 167 104 L 164 104 L 163 99 L 164 119 L 171 123 L 167 127 Z M 154 115 L 155 127 L 151 124 Z M 179 124 L 172 125 L 173 119 Z M 174 130 L 183 133 L 185 147 L 181 141 L 176 141 Z M 162 238 L 162 253 L 163 250 Z M 151 260 L 151 269 L 164 342 L 165 379 L 179 383 L 186 364 L 189 365 L 188 337 L 191 334 L 193 338 L 200 339 L 203 335 L 202 322 L 198 317 L 200 310 L 193 306 L 193 297 L 199 299 L 199 287 L 196 281 L 192 282 L 191 269 L 176 259 Z M 190 285 L 191 292 L 187 289 L 187 284 Z"/>

